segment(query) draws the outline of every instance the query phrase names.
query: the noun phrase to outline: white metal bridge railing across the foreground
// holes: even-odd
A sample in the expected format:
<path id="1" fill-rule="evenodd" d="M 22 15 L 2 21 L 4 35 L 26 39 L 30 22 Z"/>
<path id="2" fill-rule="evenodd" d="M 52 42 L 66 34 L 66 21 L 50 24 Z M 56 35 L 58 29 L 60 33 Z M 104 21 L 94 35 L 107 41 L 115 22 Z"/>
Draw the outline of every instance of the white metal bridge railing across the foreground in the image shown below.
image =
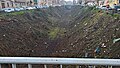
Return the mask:
<path id="1" fill-rule="evenodd" d="M 12 64 L 12 68 L 16 68 L 16 64 L 28 64 L 28 68 L 32 68 L 32 64 L 43 64 L 44 68 L 47 68 L 47 64 L 59 64 L 60 68 L 62 68 L 62 65 L 120 66 L 120 59 L 0 57 L 0 68 L 2 68 L 1 64 Z"/>

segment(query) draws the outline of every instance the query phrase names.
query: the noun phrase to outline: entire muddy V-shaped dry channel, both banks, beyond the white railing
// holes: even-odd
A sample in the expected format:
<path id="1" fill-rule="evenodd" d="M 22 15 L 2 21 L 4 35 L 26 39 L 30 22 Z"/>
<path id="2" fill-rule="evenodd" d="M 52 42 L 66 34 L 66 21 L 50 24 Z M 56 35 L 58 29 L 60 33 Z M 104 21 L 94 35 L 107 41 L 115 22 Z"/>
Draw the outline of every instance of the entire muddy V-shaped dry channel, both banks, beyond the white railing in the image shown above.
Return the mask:
<path id="1" fill-rule="evenodd" d="M 120 58 L 120 42 L 113 43 L 120 38 L 119 26 L 119 14 L 106 14 L 93 7 L 2 13 L 0 55 Z"/>

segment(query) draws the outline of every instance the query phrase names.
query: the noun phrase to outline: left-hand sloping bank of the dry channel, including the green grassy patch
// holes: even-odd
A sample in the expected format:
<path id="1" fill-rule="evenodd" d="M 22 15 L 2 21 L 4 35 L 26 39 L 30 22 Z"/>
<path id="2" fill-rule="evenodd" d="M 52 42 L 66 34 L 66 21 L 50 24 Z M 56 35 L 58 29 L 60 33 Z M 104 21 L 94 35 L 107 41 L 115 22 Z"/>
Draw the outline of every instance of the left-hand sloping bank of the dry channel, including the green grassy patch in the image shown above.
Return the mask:
<path id="1" fill-rule="evenodd" d="M 64 7 L 4 13 L 0 17 L 1 56 L 49 56 L 65 29 L 57 22 Z"/>

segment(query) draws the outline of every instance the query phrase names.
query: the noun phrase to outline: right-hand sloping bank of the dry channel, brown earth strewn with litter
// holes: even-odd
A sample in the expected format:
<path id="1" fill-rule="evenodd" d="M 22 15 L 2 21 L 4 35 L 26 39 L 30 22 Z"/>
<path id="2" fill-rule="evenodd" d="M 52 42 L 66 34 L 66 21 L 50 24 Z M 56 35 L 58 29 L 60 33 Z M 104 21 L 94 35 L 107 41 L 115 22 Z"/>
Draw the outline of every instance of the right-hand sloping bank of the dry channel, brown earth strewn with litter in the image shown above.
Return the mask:
<path id="1" fill-rule="evenodd" d="M 75 11 L 74 9 L 73 11 Z M 120 16 L 93 8 L 82 8 L 73 13 L 69 30 L 53 55 L 64 57 L 119 58 Z M 96 50 L 99 49 L 99 53 Z"/>

